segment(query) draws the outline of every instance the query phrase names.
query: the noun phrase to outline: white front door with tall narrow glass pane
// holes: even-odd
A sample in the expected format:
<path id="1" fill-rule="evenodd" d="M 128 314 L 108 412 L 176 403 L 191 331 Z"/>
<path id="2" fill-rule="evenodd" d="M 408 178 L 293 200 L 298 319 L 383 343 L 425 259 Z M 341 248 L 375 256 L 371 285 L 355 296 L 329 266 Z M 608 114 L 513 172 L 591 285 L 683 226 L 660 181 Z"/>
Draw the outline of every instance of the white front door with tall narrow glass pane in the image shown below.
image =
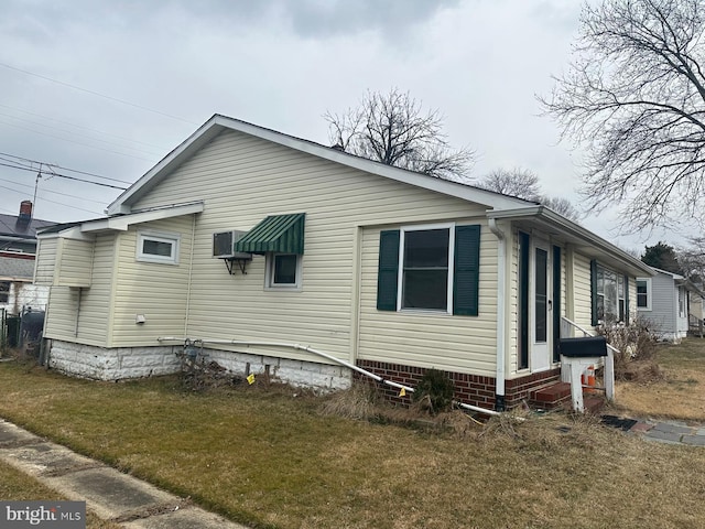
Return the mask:
<path id="1" fill-rule="evenodd" d="M 551 323 L 551 252 L 546 241 L 536 240 L 533 245 L 531 263 L 531 298 L 529 303 L 532 373 L 544 371 L 551 367 L 552 323 Z"/>

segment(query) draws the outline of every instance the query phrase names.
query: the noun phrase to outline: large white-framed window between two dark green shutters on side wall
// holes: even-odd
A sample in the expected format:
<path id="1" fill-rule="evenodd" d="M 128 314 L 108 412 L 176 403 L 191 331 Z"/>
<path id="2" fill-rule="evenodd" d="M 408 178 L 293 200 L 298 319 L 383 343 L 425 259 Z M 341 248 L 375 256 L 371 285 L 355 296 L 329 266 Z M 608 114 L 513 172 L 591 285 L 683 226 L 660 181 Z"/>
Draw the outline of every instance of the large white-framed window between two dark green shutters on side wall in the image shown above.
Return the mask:
<path id="1" fill-rule="evenodd" d="M 453 313 L 455 225 L 401 229 L 397 306 Z"/>

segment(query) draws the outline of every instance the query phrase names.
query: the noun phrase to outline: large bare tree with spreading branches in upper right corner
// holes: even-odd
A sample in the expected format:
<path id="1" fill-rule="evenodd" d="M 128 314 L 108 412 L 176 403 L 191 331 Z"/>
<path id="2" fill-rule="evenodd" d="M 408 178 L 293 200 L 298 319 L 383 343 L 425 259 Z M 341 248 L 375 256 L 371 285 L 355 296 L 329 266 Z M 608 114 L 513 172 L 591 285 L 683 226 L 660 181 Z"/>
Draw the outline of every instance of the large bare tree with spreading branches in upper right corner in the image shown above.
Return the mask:
<path id="1" fill-rule="evenodd" d="M 540 98 L 587 148 L 586 205 L 620 204 L 625 231 L 703 218 L 704 30 L 703 0 L 586 4 L 571 69 Z"/>

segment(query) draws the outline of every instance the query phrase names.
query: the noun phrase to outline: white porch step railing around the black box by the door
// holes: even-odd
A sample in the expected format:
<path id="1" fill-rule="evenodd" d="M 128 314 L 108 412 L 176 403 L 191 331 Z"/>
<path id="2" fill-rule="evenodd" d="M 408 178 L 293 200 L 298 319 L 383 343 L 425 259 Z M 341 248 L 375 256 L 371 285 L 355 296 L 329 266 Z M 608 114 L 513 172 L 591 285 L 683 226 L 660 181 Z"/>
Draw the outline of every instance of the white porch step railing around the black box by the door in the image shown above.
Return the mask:
<path id="1" fill-rule="evenodd" d="M 575 332 L 578 331 L 583 336 L 595 336 L 586 328 L 583 328 L 575 322 L 572 322 L 565 316 L 561 317 L 561 337 L 572 338 L 575 337 Z M 607 356 L 604 357 L 605 361 L 605 395 L 607 400 L 615 400 L 615 353 L 619 353 L 619 349 L 607 344 Z M 600 357 L 595 358 L 568 358 L 561 356 L 561 378 L 564 382 L 571 384 L 571 397 L 573 400 L 573 410 L 583 412 L 583 371 L 590 365 L 599 361 Z"/>

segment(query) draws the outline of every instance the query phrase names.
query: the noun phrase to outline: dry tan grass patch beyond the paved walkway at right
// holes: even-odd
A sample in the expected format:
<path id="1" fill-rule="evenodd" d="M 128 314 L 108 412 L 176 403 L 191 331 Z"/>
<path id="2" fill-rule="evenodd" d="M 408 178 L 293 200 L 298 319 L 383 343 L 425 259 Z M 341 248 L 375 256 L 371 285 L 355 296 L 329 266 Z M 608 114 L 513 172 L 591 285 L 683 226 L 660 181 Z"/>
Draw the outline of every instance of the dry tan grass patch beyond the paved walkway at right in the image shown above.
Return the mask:
<path id="1" fill-rule="evenodd" d="M 662 377 L 638 377 L 634 381 L 619 382 L 617 408 L 636 417 L 705 423 L 705 339 L 688 338 L 679 345 L 662 344 L 657 350 L 655 361 Z"/>

